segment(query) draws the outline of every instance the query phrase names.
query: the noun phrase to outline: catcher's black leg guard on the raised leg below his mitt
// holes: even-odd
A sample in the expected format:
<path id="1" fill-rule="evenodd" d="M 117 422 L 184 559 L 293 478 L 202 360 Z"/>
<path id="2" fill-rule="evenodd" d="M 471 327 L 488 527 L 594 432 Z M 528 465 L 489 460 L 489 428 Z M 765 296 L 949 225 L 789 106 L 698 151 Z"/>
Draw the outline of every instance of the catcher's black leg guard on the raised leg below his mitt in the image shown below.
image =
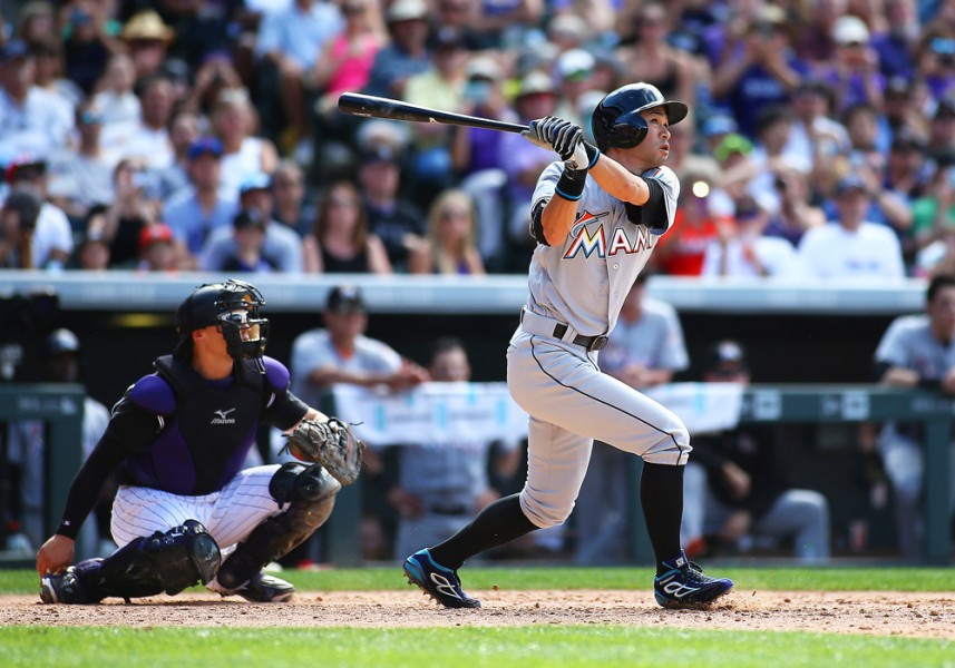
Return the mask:
<path id="1" fill-rule="evenodd" d="M 218 583 L 238 589 L 270 561 L 281 559 L 325 523 L 341 484 L 320 464 L 289 462 L 275 472 L 269 491 L 285 512 L 269 518 L 240 543 L 218 570 Z"/>

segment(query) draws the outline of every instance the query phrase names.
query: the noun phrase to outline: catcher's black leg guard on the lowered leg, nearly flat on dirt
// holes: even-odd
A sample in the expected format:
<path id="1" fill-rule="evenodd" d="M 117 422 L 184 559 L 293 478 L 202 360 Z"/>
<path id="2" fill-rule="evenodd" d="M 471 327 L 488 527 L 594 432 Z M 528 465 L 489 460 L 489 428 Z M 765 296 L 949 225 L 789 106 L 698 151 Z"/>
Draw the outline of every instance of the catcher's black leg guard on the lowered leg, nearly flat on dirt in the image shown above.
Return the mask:
<path id="1" fill-rule="evenodd" d="M 95 603 L 106 597 L 138 598 L 175 595 L 215 577 L 222 556 L 205 527 L 186 520 L 165 533 L 137 538 L 106 559 L 76 564 L 77 598 L 64 601 Z"/>

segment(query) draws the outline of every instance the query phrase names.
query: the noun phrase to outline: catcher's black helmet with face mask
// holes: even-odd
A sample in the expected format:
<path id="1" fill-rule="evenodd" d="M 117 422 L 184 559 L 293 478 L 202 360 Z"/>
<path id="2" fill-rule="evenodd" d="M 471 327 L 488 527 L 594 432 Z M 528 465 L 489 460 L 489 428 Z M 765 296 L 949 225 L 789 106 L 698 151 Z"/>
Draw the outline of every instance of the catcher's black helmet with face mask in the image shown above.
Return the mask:
<path id="1" fill-rule="evenodd" d="M 188 357 L 193 350 L 192 333 L 215 326 L 233 360 L 252 360 L 259 372 L 265 373 L 262 355 L 269 341 L 269 320 L 260 313 L 264 305 L 262 293 L 244 281 L 230 278 L 225 283 L 201 285 L 176 310 L 179 342 L 173 354 Z"/>

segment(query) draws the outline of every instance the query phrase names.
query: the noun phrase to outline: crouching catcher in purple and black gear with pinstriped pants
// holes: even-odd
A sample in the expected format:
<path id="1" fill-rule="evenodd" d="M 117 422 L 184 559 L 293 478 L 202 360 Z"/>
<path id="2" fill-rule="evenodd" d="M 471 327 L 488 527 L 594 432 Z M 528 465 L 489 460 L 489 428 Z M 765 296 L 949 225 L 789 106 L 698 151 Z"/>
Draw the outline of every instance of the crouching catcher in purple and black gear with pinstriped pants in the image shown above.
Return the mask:
<path id="1" fill-rule="evenodd" d="M 37 554 L 45 603 L 175 595 L 197 582 L 254 602 L 292 597 L 291 583 L 262 568 L 324 523 L 338 491 L 358 478 L 364 444 L 289 392 L 289 371 L 264 356 L 264 304 L 252 285 L 226 281 L 179 305 L 175 351 L 113 407 Z M 242 470 L 260 423 L 291 434 L 301 463 Z M 70 566 L 77 532 L 114 470 L 110 529 L 120 547 Z"/>

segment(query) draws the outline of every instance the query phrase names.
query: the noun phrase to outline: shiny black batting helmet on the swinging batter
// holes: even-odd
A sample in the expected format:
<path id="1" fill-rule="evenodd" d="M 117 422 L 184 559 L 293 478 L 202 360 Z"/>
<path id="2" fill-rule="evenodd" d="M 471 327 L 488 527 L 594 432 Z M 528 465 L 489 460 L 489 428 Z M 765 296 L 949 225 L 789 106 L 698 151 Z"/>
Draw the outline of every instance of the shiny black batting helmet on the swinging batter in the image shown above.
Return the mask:
<path id="1" fill-rule="evenodd" d="M 633 148 L 646 137 L 646 120 L 641 111 L 663 107 L 670 125 L 676 125 L 689 109 L 678 100 L 667 100 L 650 84 L 628 84 L 602 99 L 591 118 L 591 130 L 597 148 Z"/>

